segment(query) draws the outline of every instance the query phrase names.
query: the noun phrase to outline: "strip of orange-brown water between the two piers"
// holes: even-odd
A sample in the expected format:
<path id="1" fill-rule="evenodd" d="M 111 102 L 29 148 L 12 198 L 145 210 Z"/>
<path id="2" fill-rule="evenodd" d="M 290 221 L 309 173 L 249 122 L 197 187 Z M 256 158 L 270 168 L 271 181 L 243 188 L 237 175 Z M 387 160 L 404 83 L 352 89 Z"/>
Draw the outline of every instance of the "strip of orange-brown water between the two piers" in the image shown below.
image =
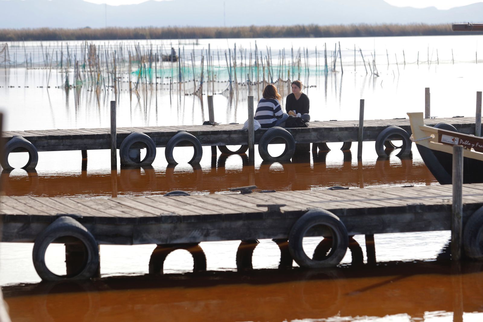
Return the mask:
<path id="1" fill-rule="evenodd" d="M 350 152 L 338 164 L 326 163 L 327 153 L 306 154 L 287 163 L 247 166 L 248 157 L 219 155 L 212 167 L 121 168 L 109 171 L 49 174 L 3 171 L 1 184 L 7 196 L 140 196 L 172 190 L 190 193 L 227 192 L 231 187 L 256 185 L 259 189 L 308 190 L 342 185 L 366 187 L 431 184 L 436 180 L 423 162 L 392 158 L 372 162 L 352 161 Z M 312 160 L 311 160 L 312 158 Z M 227 161 L 236 167 L 226 167 Z M 312 162 L 311 162 L 312 161 Z M 243 166 L 242 166 L 243 165 Z"/>

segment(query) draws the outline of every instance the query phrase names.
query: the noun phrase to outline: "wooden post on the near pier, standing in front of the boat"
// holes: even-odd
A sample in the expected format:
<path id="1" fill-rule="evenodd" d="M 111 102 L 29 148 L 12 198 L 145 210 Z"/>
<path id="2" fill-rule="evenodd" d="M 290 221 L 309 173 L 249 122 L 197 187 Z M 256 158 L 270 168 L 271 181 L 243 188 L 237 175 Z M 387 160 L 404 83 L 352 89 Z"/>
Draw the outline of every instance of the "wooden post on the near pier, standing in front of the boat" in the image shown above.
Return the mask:
<path id="1" fill-rule="evenodd" d="M 453 207 L 451 217 L 451 259 L 461 259 L 463 228 L 463 146 L 453 147 Z"/>

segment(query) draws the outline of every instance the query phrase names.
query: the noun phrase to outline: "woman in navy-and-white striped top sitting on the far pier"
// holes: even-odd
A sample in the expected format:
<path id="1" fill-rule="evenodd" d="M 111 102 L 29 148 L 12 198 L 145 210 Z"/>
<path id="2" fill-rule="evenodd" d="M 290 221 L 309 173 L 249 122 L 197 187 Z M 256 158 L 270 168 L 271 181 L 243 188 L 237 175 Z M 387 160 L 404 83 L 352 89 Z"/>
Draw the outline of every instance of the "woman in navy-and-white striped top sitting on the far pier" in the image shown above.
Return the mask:
<path id="1" fill-rule="evenodd" d="M 285 120 L 288 114 L 282 111 L 280 106 L 280 94 L 278 94 L 277 87 L 273 84 L 268 84 L 263 90 L 263 98 L 258 102 L 256 107 L 255 119 L 263 128 L 273 126 L 284 127 Z"/>

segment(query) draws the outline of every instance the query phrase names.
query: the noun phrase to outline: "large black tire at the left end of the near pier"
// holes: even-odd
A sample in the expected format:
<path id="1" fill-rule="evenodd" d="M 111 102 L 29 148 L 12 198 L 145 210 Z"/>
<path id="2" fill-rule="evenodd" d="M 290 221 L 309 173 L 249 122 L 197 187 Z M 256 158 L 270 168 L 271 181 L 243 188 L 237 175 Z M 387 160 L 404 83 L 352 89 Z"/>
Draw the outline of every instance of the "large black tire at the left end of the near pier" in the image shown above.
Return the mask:
<path id="1" fill-rule="evenodd" d="M 74 276 L 54 274 L 45 265 L 45 251 L 49 244 L 57 238 L 65 236 L 81 240 L 87 251 L 84 269 Z M 33 244 L 32 259 L 35 270 L 42 280 L 87 280 L 94 277 L 99 268 L 99 245 L 94 236 L 82 224 L 71 217 L 62 216 L 37 235 Z"/>

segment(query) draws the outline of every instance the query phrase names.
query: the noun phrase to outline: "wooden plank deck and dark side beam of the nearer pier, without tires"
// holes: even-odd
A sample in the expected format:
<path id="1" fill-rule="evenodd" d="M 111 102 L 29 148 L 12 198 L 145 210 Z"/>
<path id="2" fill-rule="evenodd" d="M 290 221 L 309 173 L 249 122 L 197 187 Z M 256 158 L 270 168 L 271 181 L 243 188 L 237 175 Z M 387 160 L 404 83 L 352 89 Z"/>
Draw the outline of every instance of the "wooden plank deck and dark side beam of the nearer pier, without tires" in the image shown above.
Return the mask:
<path id="1" fill-rule="evenodd" d="M 483 184 L 463 186 L 464 219 L 483 205 Z M 307 210 L 341 218 L 349 235 L 449 230 L 451 185 L 118 198 L 0 197 L 2 240 L 33 242 L 71 215 L 100 244 L 175 244 L 287 238 Z M 286 204 L 267 211 L 260 204 Z"/>

